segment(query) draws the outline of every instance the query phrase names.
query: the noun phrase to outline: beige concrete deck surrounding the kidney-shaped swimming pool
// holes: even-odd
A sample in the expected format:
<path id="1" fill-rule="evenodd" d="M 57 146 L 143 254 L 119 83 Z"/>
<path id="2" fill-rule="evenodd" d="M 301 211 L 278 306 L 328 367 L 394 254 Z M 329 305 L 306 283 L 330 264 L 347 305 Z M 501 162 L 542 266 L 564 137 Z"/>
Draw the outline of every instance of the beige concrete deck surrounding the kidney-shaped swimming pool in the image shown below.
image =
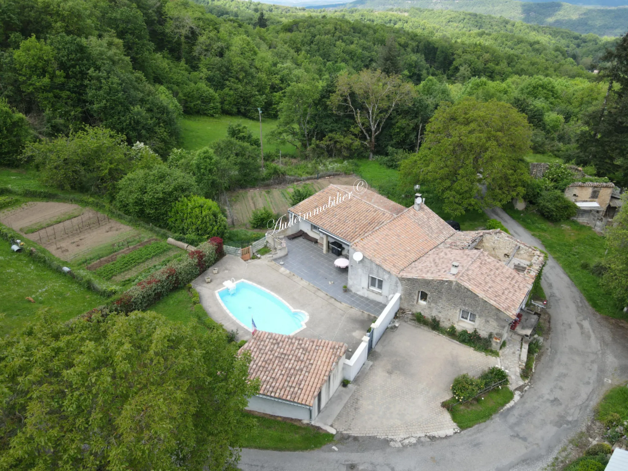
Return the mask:
<path id="1" fill-rule="evenodd" d="M 217 274 L 212 273 L 214 268 L 218 269 Z M 205 276 L 212 278 L 211 283 L 205 283 Z M 360 345 L 367 328 L 376 320 L 370 314 L 338 302 L 270 259 L 245 262 L 239 257 L 227 255 L 192 284 L 210 317 L 222 323 L 227 330 L 237 329 L 239 340 L 247 340 L 251 337 L 251 332 L 239 325 L 224 310 L 216 296 L 216 291 L 223 288 L 222 282 L 232 278 L 259 284 L 283 298 L 293 309 L 308 313 L 310 318 L 306 322 L 306 328 L 296 334 L 299 337 L 344 342 L 354 351 Z M 347 356 L 351 356 L 350 352 Z"/>

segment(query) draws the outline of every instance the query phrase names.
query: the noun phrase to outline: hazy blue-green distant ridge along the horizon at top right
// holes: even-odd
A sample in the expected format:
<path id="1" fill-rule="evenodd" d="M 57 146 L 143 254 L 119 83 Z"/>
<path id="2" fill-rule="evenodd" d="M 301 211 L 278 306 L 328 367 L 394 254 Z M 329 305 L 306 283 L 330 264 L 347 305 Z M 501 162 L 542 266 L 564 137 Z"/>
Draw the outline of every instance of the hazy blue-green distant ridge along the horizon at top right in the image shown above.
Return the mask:
<path id="1" fill-rule="evenodd" d="M 626 3 L 628 0 L 598 1 Z M 628 31 L 628 6 L 582 6 L 561 2 L 517 0 L 357 0 L 345 4 L 320 4 L 309 8 L 369 8 L 374 10 L 424 8 L 467 11 L 503 16 L 514 21 L 524 21 L 524 23 L 565 28 L 581 34 L 622 36 Z"/>

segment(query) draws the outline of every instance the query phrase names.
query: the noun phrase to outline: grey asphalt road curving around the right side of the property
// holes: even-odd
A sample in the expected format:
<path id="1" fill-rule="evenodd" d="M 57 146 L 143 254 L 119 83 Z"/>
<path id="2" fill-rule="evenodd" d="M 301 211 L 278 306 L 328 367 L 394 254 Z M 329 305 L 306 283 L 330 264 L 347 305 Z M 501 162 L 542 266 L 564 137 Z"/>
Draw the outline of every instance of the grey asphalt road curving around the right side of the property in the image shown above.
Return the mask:
<path id="1" fill-rule="evenodd" d="M 504 211 L 502 221 L 517 239 L 543 248 Z M 449 438 L 392 448 L 386 440 L 343 436 L 312 452 L 242 450 L 242 470 L 539 470 L 588 420 L 612 383 L 628 377 L 625 328 L 595 313 L 558 263 L 543 271 L 549 296 L 551 337 L 531 387 L 514 407 Z M 607 381 L 605 381 L 605 379 Z M 425 440 L 425 439 L 423 439 Z"/>

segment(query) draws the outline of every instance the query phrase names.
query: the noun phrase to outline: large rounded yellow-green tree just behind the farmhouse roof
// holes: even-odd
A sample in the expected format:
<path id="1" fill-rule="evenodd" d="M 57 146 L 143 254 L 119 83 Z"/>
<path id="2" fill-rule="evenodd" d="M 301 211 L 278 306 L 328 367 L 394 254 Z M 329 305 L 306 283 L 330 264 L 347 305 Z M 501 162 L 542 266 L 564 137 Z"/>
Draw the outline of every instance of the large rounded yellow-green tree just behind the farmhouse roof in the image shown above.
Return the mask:
<path id="1" fill-rule="evenodd" d="M 520 198 L 532 131 L 511 105 L 465 98 L 441 106 L 418 154 L 401 163 L 406 183 L 422 183 L 452 216 Z"/>

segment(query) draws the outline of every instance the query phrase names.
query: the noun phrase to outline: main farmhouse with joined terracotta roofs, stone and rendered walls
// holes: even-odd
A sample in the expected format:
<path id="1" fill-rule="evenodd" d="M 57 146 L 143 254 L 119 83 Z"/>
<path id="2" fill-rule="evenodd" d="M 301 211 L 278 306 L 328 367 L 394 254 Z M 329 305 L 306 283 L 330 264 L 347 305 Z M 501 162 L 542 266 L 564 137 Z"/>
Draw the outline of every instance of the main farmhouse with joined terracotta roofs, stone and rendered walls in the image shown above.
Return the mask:
<path id="1" fill-rule="evenodd" d="M 291 207 L 288 227 L 349 259 L 347 286 L 436 317 L 441 325 L 505 338 L 518 324 L 543 254 L 501 230 L 456 231 L 416 195 L 405 208 L 370 190 L 330 185 Z"/>

